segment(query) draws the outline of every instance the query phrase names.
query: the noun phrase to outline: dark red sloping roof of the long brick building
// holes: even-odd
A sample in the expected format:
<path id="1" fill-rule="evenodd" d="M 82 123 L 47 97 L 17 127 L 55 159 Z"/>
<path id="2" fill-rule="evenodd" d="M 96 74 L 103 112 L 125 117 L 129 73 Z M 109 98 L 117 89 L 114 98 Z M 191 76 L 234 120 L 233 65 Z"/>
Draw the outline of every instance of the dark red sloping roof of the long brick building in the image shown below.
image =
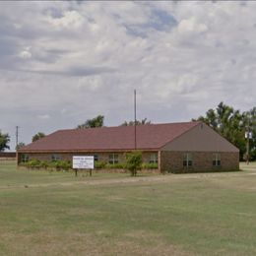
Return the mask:
<path id="1" fill-rule="evenodd" d="M 159 150 L 199 122 L 137 126 L 137 149 Z M 19 152 L 134 150 L 134 126 L 59 130 L 29 144 Z"/>

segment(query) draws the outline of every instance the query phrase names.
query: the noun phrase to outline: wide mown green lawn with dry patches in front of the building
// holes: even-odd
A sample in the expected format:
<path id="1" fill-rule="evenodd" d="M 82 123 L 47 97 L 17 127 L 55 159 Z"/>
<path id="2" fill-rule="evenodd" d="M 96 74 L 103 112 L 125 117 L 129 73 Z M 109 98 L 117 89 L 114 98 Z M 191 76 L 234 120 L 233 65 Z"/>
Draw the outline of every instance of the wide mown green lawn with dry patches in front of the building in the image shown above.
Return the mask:
<path id="1" fill-rule="evenodd" d="M 202 174 L 0 162 L 0 255 L 256 255 L 256 164 Z"/>

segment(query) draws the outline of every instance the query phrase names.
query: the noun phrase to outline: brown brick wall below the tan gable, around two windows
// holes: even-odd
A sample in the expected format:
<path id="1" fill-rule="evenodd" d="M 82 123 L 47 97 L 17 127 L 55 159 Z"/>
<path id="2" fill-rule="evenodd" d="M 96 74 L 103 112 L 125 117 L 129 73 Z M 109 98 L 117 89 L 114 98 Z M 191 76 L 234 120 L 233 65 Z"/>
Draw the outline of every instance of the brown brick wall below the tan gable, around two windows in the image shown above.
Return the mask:
<path id="1" fill-rule="evenodd" d="M 204 172 L 237 170 L 239 168 L 239 153 L 219 153 L 221 166 L 213 166 L 213 156 L 216 152 L 193 152 L 192 166 L 183 166 L 184 152 L 160 152 L 160 170 L 162 172 Z"/>

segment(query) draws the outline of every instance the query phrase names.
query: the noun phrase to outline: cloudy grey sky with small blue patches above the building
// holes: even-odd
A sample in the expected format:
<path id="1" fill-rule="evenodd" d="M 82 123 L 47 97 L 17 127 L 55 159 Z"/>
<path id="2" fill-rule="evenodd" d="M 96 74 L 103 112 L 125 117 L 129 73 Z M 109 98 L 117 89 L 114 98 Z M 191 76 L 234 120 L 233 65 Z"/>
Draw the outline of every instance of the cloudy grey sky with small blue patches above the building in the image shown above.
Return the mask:
<path id="1" fill-rule="evenodd" d="M 0 2 L 0 129 L 15 145 L 138 118 L 255 106 L 255 2 Z"/>

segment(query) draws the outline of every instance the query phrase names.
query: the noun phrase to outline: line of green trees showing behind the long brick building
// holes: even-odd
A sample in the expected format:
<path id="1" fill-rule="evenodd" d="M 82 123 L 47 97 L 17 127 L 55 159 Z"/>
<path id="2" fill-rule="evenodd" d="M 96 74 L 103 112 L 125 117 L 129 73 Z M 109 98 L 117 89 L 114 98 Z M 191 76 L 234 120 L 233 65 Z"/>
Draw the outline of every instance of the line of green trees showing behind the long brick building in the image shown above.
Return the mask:
<path id="1" fill-rule="evenodd" d="M 245 134 L 250 134 L 249 149 L 250 160 L 256 160 L 256 107 L 244 112 L 234 109 L 232 106 L 221 102 L 215 109 L 210 108 L 205 115 L 192 119 L 192 121 L 203 121 L 216 132 L 222 135 L 227 141 L 236 146 L 240 151 L 240 160 L 245 160 L 246 155 L 246 138 Z M 124 121 L 120 126 L 134 125 L 134 121 Z M 151 124 L 147 118 L 136 120 L 136 125 Z M 104 127 L 104 116 L 97 115 L 92 119 L 87 119 L 84 123 L 78 125 L 77 129 L 88 129 Z M 32 142 L 41 139 L 45 136 L 44 133 L 38 132 L 32 136 Z M 0 152 L 9 147 L 10 136 L 7 133 L 2 133 L 0 130 Z M 25 146 L 24 143 L 19 143 L 17 148 Z"/>

